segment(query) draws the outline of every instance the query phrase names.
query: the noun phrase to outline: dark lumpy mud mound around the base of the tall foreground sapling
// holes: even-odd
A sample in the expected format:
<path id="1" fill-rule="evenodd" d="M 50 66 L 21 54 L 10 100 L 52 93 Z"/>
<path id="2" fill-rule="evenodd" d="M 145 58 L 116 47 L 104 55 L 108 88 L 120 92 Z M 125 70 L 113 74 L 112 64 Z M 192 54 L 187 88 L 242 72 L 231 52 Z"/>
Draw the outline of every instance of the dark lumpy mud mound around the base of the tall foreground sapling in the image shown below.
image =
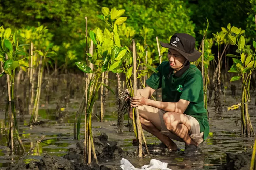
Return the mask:
<path id="1" fill-rule="evenodd" d="M 117 146 L 117 142 L 108 141 L 108 136 L 105 133 L 94 137 L 94 146 L 99 163 L 135 156 L 132 152 L 122 150 Z M 70 148 L 64 157 L 46 154 L 40 161 L 31 161 L 29 164 L 25 164 L 21 159 L 17 163 L 11 164 L 7 170 L 114 170 L 118 168 L 97 163 L 87 165 L 83 163 L 83 160 L 84 143 L 80 141 L 76 143 L 76 148 Z"/>

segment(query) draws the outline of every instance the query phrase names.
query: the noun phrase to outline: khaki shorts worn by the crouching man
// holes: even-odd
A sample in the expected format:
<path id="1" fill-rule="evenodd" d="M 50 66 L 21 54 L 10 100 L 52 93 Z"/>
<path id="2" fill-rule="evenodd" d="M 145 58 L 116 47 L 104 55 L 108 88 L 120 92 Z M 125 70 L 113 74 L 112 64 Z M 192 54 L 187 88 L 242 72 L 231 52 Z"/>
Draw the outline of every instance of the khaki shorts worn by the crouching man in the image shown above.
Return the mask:
<path id="1" fill-rule="evenodd" d="M 173 140 L 184 142 L 180 137 L 171 133 L 166 128 L 165 122 L 163 120 L 163 114 L 166 113 L 165 111 L 157 109 L 155 107 L 151 107 L 151 106 L 139 106 L 139 113 L 147 114 L 148 118 L 153 120 L 152 124 L 154 124 L 160 130 L 161 134 L 166 135 Z M 160 122 L 159 122 L 159 119 L 156 118 L 156 114 L 159 115 Z M 186 115 L 186 116 L 188 117 L 188 120 L 190 121 L 190 124 L 191 124 L 191 129 L 189 130 L 189 136 L 197 145 L 199 145 L 200 143 L 203 142 L 203 132 L 200 133 L 200 125 L 194 117 L 190 115 Z"/>

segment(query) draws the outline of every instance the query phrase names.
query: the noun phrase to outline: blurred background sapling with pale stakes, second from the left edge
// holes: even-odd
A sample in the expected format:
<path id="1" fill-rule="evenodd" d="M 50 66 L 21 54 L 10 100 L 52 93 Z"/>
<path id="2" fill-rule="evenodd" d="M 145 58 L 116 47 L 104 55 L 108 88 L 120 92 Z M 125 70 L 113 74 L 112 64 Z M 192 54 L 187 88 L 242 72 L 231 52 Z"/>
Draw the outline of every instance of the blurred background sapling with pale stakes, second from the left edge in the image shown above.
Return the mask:
<path id="1" fill-rule="evenodd" d="M 51 43 L 52 34 L 48 32 L 47 27 L 40 26 L 37 28 L 30 28 L 22 30 L 20 36 L 24 38 L 27 44 L 33 44 L 33 48 L 30 48 L 31 55 L 30 57 L 30 114 L 31 118 L 29 124 L 32 125 L 37 121 L 38 118 L 38 109 L 39 101 L 41 96 L 41 86 L 43 80 L 44 66 L 47 60 L 47 57 L 54 56 L 56 53 L 51 51 L 53 43 Z M 33 53 L 32 53 L 33 50 Z M 37 73 L 37 76 L 35 75 Z M 35 78 L 37 77 L 37 83 Z M 37 86 L 36 94 L 34 96 L 34 87 Z"/>

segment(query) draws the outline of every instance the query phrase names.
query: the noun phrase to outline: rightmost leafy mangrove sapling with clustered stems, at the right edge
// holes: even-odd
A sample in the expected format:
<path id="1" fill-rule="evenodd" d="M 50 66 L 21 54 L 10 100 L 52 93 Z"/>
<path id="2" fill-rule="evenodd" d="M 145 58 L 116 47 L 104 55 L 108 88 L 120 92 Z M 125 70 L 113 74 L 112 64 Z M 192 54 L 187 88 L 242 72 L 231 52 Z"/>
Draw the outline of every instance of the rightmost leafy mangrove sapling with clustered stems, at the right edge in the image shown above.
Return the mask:
<path id="1" fill-rule="evenodd" d="M 251 101 L 250 97 L 250 81 L 253 70 L 256 69 L 256 42 L 253 41 L 254 51 L 250 48 L 250 45 L 245 45 L 245 38 L 243 36 L 244 30 L 237 27 L 228 28 L 228 37 L 232 40 L 232 45 L 236 45 L 239 56 L 233 54 L 227 54 L 229 57 L 233 57 L 234 64 L 231 66 L 228 72 L 237 73 L 237 76 L 231 78 L 230 81 L 241 80 L 242 94 L 241 94 L 241 135 L 248 137 L 255 136 L 253 126 L 250 120 L 248 104 Z M 240 59 L 238 59 L 240 57 Z"/>

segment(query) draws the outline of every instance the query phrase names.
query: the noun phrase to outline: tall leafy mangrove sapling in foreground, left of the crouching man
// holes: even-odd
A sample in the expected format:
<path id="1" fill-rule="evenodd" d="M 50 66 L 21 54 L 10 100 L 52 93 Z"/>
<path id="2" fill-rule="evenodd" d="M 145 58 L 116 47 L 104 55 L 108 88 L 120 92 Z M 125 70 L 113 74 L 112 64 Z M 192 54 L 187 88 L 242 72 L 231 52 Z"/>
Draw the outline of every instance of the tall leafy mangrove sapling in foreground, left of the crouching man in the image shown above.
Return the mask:
<path id="1" fill-rule="evenodd" d="M 112 10 L 111 10 L 112 11 Z M 76 114 L 75 123 L 74 123 L 74 138 L 76 140 L 80 139 L 80 123 L 82 118 L 83 110 L 85 109 L 85 143 L 86 143 L 86 152 L 84 153 L 86 156 L 85 162 L 91 163 L 91 153 L 94 155 L 94 159 L 97 162 L 97 157 L 94 149 L 93 143 L 93 133 L 92 133 L 92 111 L 93 106 L 95 104 L 97 93 L 101 86 L 105 86 L 109 90 L 113 92 L 113 90 L 104 84 L 104 79 L 102 77 L 102 73 L 106 71 L 112 71 L 114 73 L 121 73 L 122 70 L 119 67 L 122 65 L 122 58 L 126 55 L 128 48 L 122 47 L 117 25 L 122 24 L 125 20 L 118 20 L 113 17 L 113 15 L 117 15 L 118 11 L 114 12 L 106 12 L 106 16 L 109 15 L 112 18 L 113 24 L 113 32 L 111 33 L 107 28 L 102 30 L 100 28 L 94 29 L 94 31 L 90 31 L 90 38 L 95 45 L 95 49 L 93 54 L 88 55 L 88 61 L 91 63 L 91 67 L 87 61 L 79 61 L 75 64 L 77 67 L 85 73 L 90 74 L 88 79 L 88 89 L 85 91 L 83 96 L 83 101 L 80 105 L 79 111 Z M 122 17 L 120 17 L 122 19 Z M 92 47 L 91 47 L 92 49 Z M 113 92 L 114 93 L 114 92 Z M 87 99 L 86 99 L 87 96 Z"/>

